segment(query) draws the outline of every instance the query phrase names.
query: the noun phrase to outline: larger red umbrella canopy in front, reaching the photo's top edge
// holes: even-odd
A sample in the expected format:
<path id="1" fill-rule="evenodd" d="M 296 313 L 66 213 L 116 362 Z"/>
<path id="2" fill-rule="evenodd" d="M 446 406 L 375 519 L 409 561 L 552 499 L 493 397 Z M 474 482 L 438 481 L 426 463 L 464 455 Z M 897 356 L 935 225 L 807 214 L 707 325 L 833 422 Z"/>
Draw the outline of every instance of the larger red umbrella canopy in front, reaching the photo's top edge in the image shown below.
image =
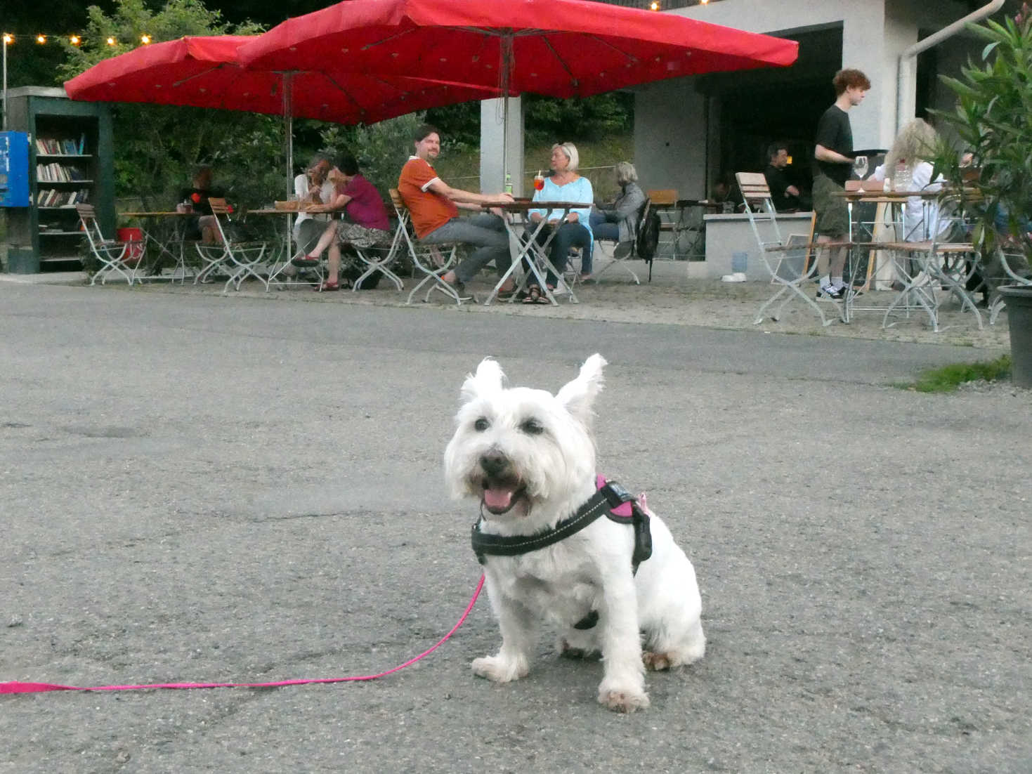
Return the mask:
<path id="1" fill-rule="evenodd" d="M 786 66 L 798 44 L 586 0 L 346 0 L 240 50 L 249 66 L 338 67 L 585 97 L 719 70 Z"/>

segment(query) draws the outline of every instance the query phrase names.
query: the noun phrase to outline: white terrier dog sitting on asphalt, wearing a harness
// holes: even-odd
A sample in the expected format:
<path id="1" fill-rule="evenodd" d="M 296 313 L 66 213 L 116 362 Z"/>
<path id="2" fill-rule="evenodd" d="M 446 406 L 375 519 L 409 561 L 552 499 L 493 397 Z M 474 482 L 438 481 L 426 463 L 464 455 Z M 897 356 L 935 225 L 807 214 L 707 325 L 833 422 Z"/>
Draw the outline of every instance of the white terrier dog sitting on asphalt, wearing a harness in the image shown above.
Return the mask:
<path id="1" fill-rule="evenodd" d="M 631 712 L 649 703 L 645 667 L 691 664 L 706 638 L 695 569 L 663 521 L 637 503 L 621 507 L 634 508 L 634 520 L 599 518 L 630 498 L 615 485 L 625 496 L 614 502 L 596 484 L 591 406 L 605 364 L 591 355 L 552 395 L 507 388 L 501 366 L 485 359 L 462 385 L 445 476 L 453 496 L 480 501 L 474 548 L 502 630 L 501 650 L 474 660 L 474 674 L 525 676 L 548 618 L 563 628 L 563 653 L 602 652 L 599 701 Z M 642 560 L 649 531 L 651 557 Z"/>

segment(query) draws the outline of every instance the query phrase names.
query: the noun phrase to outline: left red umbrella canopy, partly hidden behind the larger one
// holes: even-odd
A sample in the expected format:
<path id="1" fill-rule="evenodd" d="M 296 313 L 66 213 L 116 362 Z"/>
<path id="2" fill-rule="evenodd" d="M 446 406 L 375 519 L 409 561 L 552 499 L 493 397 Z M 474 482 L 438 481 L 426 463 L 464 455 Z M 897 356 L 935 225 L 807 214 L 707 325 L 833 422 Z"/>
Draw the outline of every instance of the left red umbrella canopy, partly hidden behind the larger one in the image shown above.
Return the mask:
<path id="1" fill-rule="evenodd" d="M 142 45 L 79 73 L 65 83 L 65 91 L 72 99 L 88 101 L 283 115 L 284 72 L 249 69 L 237 60 L 239 47 L 255 40 L 256 36 L 214 35 Z M 291 116 L 337 124 L 372 124 L 413 110 L 498 96 L 494 89 L 400 75 L 293 71 L 290 79 Z"/>

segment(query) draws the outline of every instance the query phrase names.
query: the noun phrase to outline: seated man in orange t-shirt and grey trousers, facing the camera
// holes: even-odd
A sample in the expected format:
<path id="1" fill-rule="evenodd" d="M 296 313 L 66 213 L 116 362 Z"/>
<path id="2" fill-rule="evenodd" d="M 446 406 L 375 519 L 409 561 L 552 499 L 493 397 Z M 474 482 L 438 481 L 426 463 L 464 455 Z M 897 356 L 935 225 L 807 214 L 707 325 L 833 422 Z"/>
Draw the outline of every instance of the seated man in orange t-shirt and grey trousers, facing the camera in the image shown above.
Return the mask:
<path id="1" fill-rule="evenodd" d="M 412 216 L 416 236 L 427 245 L 459 243 L 477 248 L 441 279 L 461 293 L 465 283 L 491 261 L 498 276 L 505 275 L 512 256 L 501 213 L 480 212 L 472 218 L 459 218 L 458 206 L 481 211 L 484 206 L 512 202 L 512 195 L 473 193 L 452 188 L 441 180 L 430 166 L 441 154 L 441 134 L 437 127 L 423 124 L 413 135 L 413 141 L 416 153 L 401 167 L 397 192 Z M 512 290 L 513 283 L 499 288 L 502 293 Z"/>

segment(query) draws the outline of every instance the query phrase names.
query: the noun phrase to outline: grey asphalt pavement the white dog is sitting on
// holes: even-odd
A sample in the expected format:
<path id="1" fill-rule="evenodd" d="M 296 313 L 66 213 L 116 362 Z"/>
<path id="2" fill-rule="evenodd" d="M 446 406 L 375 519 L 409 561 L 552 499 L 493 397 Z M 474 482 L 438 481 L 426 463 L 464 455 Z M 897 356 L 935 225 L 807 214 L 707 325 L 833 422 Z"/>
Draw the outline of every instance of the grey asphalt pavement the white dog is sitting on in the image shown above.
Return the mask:
<path id="1" fill-rule="evenodd" d="M 309 294 L 311 295 L 311 294 Z M 1028 772 L 1032 399 L 983 350 L 0 284 L 0 681 L 264 682 L 422 652 L 479 578 L 442 454 L 486 355 L 609 360 L 600 472 L 696 565 L 706 657 L 496 686 L 486 596 L 370 682 L 0 696 L 3 772 Z"/>

